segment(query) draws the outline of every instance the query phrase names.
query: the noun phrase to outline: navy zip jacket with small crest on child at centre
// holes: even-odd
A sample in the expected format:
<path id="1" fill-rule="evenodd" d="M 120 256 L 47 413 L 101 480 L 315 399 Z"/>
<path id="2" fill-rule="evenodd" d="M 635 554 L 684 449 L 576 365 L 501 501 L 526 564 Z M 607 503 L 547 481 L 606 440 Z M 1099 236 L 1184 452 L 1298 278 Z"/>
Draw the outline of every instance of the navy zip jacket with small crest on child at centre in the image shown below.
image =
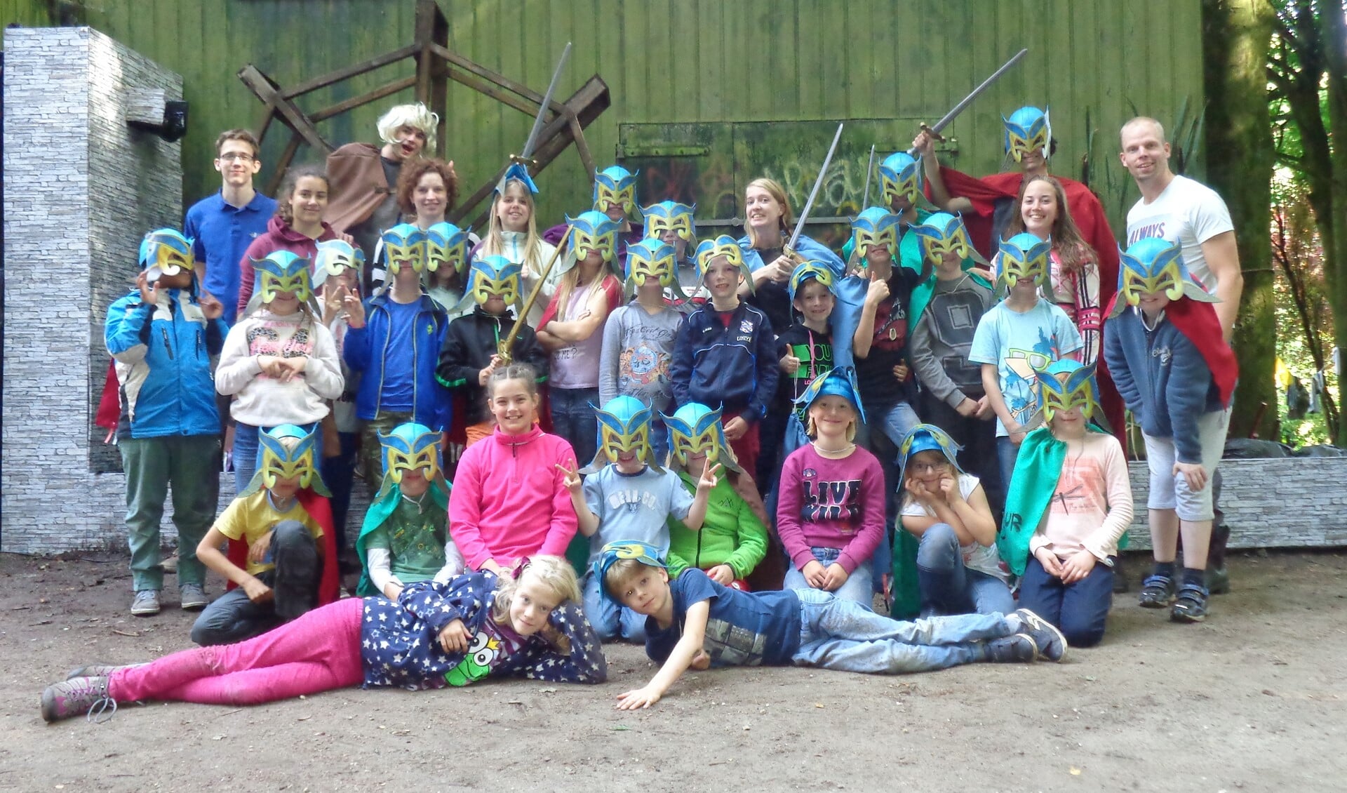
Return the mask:
<path id="1" fill-rule="evenodd" d="M 766 314 L 740 303 L 726 327 L 707 303 L 688 315 L 674 341 L 674 401 L 725 405 L 727 416 L 738 412 L 745 421 L 757 421 L 776 396 L 777 359 Z"/>

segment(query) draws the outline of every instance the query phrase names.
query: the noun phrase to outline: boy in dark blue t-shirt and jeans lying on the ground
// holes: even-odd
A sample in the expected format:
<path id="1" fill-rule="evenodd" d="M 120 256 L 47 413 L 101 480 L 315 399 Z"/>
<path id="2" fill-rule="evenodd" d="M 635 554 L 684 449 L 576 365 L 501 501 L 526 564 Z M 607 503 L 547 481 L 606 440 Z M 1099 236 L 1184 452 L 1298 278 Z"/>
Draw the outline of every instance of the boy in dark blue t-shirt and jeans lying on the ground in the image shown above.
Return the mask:
<path id="1" fill-rule="evenodd" d="M 796 665 L 898 675 L 978 661 L 1060 661 L 1061 633 L 1021 609 L 916 622 L 881 617 L 823 590 L 741 592 L 700 570 L 669 582 L 659 549 L 645 543 L 605 545 L 595 575 L 609 598 L 647 617 L 645 654 L 663 664 L 655 677 L 618 696 L 618 708 L 657 703 L 688 668 Z"/>

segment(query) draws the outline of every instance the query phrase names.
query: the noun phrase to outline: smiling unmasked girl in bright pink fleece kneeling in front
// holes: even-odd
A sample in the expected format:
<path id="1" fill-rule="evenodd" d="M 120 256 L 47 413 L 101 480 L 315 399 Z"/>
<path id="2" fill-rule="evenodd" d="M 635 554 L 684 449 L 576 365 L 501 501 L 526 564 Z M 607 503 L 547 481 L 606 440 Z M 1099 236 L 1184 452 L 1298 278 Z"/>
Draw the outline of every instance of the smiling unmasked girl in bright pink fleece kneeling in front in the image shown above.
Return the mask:
<path id="1" fill-rule="evenodd" d="M 537 427 L 537 376 L 525 364 L 490 373 L 496 431 L 463 452 L 449 497 L 449 532 L 473 570 L 500 574 L 523 556 L 564 556 L 575 536 L 566 470 L 575 451 Z"/>

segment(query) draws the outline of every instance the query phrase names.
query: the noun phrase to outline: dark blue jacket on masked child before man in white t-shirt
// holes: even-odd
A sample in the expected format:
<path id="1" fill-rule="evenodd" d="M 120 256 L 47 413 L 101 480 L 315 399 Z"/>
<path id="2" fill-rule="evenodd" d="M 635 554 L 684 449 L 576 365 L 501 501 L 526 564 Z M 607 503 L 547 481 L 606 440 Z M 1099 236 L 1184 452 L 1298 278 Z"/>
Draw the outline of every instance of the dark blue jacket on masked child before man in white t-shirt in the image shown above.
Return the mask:
<path id="1" fill-rule="evenodd" d="M 1223 411 L 1211 368 L 1188 337 L 1161 318 L 1148 331 L 1141 311 L 1126 308 L 1103 327 L 1103 358 L 1141 431 L 1173 438 L 1181 463 L 1200 463 L 1197 419 Z"/>

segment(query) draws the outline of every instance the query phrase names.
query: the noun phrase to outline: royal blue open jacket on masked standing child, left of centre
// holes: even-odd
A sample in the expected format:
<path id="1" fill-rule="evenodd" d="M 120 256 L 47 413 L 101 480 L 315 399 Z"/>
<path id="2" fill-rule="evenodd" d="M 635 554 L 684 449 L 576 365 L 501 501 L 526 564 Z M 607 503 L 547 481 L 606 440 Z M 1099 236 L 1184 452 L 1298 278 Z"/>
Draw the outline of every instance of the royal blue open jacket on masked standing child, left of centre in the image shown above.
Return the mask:
<path id="1" fill-rule="evenodd" d="M 356 416 L 366 421 L 380 411 L 384 392 L 384 361 L 392 320 L 388 314 L 388 292 L 365 300 L 365 327 L 346 331 L 342 359 L 352 372 L 361 372 L 360 390 L 356 392 Z M 445 429 L 450 419 L 449 392 L 435 380 L 439 349 L 445 343 L 449 315 L 427 295 L 420 296 L 416 324 L 412 327 L 412 359 L 416 366 L 412 378 L 412 421 L 431 429 Z"/>

